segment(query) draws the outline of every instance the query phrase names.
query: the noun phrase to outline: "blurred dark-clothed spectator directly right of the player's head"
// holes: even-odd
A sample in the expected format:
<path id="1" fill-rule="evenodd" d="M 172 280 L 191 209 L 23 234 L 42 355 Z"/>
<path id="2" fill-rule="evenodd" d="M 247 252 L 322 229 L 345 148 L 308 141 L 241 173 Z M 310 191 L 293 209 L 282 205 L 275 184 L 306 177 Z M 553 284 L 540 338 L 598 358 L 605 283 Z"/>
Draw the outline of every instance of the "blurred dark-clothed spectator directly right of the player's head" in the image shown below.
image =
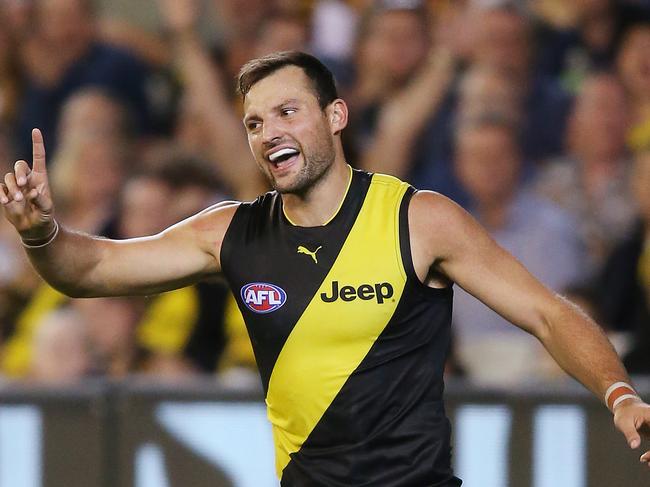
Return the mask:
<path id="1" fill-rule="evenodd" d="M 429 29 L 419 3 L 380 2 L 367 14 L 353 128 L 364 168 L 455 197 L 447 175 L 456 58 L 445 46 L 430 47 Z"/>

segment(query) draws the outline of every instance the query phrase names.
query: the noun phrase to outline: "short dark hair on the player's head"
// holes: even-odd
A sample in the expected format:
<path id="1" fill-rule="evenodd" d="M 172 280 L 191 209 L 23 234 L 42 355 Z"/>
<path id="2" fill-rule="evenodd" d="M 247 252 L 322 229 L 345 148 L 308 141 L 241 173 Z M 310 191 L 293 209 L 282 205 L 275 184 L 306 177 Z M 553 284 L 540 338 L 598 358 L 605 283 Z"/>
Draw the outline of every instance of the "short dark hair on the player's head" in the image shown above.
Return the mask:
<path id="1" fill-rule="evenodd" d="M 300 51 L 274 52 L 248 61 L 239 71 L 237 91 L 245 98 L 255 83 L 286 66 L 303 70 L 312 82 L 321 108 L 339 97 L 332 72 L 316 57 Z"/>

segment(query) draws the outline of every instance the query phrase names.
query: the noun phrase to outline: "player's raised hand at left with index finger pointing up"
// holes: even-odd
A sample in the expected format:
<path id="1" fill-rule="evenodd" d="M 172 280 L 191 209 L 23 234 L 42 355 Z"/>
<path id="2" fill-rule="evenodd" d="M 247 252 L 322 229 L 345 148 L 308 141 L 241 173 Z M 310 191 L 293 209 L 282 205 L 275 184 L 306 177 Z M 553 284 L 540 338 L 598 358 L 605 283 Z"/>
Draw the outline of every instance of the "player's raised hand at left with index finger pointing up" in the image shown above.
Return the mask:
<path id="1" fill-rule="evenodd" d="M 45 168 L 45 144 L 38 129 L 32 130 L 30 169 L 26 161 L 18 161 L 14 171 L 0 182 L 0 204 L 5 216 L 16 227 L 24 241 L 46 238 L 54 226 L 54 205 Z"/>

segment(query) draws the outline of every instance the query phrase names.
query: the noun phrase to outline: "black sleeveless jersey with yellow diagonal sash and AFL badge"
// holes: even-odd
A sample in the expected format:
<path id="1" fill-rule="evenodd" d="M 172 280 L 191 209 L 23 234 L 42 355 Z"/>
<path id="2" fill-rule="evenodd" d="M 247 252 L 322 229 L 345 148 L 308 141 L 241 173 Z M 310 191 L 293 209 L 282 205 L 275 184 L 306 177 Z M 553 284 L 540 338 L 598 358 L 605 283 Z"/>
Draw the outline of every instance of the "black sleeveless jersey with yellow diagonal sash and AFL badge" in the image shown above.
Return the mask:
<path id="1" fill-rule="evenodd" d="M 325 225 L 293 225 L 271 192 L 237 209 L 222 245 L 281 485 L 460 485 L 442 402 L 451 289 L 415 274 L 413 188 L 361 171 L 350 181 Z"/>

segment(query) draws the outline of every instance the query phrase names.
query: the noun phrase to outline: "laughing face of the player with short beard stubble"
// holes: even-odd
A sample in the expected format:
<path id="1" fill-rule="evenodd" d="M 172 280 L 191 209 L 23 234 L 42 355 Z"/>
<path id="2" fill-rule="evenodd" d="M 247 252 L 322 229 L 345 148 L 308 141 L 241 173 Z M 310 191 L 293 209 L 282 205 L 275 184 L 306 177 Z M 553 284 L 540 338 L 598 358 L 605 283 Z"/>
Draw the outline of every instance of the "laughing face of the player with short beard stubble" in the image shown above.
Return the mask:
<path id="1" fill-rule="evenodd" d="M 304 194 L 335 158 L 334 131 L 309 78 L 287 66 L 258 81 L 244 100 L 248 144 L 280 193 Z"/>

